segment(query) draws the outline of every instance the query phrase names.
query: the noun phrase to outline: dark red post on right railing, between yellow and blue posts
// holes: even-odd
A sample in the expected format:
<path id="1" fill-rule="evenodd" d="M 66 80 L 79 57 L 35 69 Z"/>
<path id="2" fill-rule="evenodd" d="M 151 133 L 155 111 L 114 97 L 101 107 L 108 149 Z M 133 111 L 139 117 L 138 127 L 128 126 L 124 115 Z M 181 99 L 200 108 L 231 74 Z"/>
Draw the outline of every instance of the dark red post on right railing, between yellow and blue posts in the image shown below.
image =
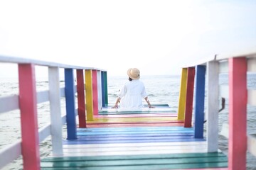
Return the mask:
<path id="1" fill-rule="evenodd" d="M 188 67 L 184 128 L 191 128 L 195 67 Z"/>

